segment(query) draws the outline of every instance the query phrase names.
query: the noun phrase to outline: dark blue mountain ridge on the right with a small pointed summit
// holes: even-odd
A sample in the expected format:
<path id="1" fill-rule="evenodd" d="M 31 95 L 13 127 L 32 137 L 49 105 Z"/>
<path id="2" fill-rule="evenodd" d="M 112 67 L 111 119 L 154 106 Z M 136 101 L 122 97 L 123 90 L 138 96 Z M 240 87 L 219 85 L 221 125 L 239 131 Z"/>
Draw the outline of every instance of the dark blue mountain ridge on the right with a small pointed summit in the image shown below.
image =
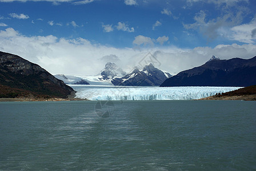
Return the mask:
<path id="1" fill-rule="evenodd" d="M 256 84 L 256 56 L 251 59 L 220 60 L 213 56 L 200 67 L 179 72 L 166 79 L 161 87 L 170 86 L 235 86 Z"/>

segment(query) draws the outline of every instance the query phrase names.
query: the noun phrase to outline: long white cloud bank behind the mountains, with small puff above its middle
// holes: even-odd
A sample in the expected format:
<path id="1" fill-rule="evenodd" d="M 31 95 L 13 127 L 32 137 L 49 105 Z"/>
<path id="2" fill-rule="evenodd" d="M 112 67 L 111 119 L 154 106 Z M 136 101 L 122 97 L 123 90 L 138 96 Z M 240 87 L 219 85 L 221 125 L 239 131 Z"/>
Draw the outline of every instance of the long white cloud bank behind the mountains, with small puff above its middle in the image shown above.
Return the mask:
<path id="1" fill-rule="evenodd" d="M 152 43 L 151 38 L 142 35 L 134 40 L 134 44 L 137 45 Z M 219 44 L 214 48 L 186 49 L 165 46 L 134 50 L 93 44 L 83 38 L 57 38 L 54 35 L 25 36 L 13 28 L 6 28 L 0 30 L 0 50 L 37 63 L 51 74 L 85 76 L 99 74 L 107 60 L 114 62 L 119 59 L 119 66 L 129 72 L 149 51 L 161 63 L 159 66 L 161 70 L 177 74 L 183 70 L 201 66 L 212 55 L 221 59 L 252 58 L 255 56 L 256 46 L 254 44 Z"/>

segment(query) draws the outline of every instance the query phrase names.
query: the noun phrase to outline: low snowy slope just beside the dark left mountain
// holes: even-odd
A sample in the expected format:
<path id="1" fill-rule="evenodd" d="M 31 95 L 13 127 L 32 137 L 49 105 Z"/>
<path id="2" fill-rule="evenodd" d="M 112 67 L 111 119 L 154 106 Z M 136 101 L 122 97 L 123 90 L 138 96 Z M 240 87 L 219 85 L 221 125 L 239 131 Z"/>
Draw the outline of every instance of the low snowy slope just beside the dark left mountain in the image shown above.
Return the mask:
<path id="1" fill-rule="evenodd" d="M 70 75 L 63 75 L 63 74 L 58 74 L 54 75 L 55 78 L 62 80 L 65 84 L 87 84 L 89 85 L 85 79 L 79 78 L 77 76 L 70 76 Z"/>

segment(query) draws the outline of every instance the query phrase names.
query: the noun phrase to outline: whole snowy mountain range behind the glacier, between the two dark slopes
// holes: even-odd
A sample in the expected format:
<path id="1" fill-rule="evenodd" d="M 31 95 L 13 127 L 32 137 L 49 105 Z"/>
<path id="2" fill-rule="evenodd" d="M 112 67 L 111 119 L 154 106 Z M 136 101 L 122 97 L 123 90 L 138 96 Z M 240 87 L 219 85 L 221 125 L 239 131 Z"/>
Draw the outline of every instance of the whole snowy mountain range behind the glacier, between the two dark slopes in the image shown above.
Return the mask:
<path id="1" fill-rule="evenodd" d="M 155 68 L 153 64 L 143 67 L 142 70 L 134 69 L 126 74 L 122 68 L 115 63 L 107 62 L 105 68 L 98 76 L 69 76 L 58 74 L 56 78 L 63 80 L 66 84 L 91 84 L 91 85 L 109 85 L 114 86 L 159 86 L 171 75 Z"/>

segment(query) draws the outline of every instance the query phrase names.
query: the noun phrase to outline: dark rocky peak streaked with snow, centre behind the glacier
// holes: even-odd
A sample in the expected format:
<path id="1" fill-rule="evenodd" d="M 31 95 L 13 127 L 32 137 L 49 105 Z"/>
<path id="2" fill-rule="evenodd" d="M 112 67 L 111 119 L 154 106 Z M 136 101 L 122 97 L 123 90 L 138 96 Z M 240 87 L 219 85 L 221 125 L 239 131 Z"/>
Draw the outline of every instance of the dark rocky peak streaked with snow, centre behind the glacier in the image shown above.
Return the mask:
<path id="1" fill-rule="evenodd" d="M 167 78 L 170 78 L 170 76 L 169 73 L 155 68 L 153 64 L 150 63 L 143 67 L 142 70 L 136 68 L 130 74 L 122 78 L 113 79 L 111 83 L 115 86 L 159 86 Z"/>

